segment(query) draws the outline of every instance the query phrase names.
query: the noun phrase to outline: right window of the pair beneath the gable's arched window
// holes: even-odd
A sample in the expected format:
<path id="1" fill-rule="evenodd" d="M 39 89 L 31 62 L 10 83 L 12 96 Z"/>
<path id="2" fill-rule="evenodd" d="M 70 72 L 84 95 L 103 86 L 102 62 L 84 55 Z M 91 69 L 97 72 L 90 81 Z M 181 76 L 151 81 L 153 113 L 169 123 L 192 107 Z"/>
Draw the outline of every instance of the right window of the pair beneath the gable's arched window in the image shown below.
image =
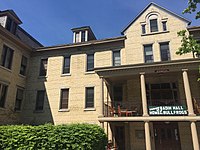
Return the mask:
<path id="1" fill-rule="evenodd" d="M 169 42 L 160 43 L 161 61 L 170 60 Z"/>

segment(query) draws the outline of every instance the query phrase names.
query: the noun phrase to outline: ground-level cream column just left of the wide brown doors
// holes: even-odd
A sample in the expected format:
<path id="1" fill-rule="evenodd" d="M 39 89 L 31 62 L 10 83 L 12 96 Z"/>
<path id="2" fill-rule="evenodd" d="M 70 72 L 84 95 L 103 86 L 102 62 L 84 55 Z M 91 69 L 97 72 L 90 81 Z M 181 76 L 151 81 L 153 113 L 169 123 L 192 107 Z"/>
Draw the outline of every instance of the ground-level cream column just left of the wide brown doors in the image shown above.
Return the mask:
<path id="1" fill-rule="evenodd" d="M 144 131 L 145 131 L 146 150 L 151 150 L 151 136 L 150 136 L 149 122 L 144 123 Z"/>

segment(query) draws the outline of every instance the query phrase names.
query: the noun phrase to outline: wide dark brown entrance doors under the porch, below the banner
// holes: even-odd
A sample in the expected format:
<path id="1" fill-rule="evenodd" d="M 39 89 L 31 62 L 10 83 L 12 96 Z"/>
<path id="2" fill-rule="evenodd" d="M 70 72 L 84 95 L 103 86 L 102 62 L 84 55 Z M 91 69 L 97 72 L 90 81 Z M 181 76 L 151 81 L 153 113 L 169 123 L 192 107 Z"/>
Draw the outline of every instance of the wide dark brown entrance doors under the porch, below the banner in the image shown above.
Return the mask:
<path id="1" fill-rule="evenodd" d="M 178 123 L 153 123 L 156 150 L 181 150 Z"/>

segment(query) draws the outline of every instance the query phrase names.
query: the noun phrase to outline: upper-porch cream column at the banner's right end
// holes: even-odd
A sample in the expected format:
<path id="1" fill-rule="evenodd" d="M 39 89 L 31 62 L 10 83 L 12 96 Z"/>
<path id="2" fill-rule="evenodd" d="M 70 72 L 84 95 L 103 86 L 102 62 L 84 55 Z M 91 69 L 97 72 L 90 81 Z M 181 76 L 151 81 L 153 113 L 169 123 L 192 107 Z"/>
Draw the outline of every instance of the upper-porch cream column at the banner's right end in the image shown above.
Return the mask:
<path id="1" fill-rule="evenodd" d="M 189 84 L 187 70 L 188 69 L 182 69 L 185 97 L 186 97 L 186 103 L 187 103 L 187 108 L 188 108 L 188 115 L 195 115 L 194 109 L 193 109 L 192 96 L 191 96 L 191 91 L 190 91 L 190 84 Z"/>

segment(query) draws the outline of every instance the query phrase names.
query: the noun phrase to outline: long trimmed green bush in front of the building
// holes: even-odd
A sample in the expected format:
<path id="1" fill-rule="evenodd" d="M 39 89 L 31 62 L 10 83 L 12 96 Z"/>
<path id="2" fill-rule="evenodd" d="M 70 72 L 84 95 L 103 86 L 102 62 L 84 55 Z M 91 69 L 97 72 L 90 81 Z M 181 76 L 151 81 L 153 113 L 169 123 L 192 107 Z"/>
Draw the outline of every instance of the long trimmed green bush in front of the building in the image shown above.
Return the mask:
<path id="1" fill-rule="evenodd" d="M 91 124 L 0 126 L 0 149 L 103 150 L 107 137 Z"/>

